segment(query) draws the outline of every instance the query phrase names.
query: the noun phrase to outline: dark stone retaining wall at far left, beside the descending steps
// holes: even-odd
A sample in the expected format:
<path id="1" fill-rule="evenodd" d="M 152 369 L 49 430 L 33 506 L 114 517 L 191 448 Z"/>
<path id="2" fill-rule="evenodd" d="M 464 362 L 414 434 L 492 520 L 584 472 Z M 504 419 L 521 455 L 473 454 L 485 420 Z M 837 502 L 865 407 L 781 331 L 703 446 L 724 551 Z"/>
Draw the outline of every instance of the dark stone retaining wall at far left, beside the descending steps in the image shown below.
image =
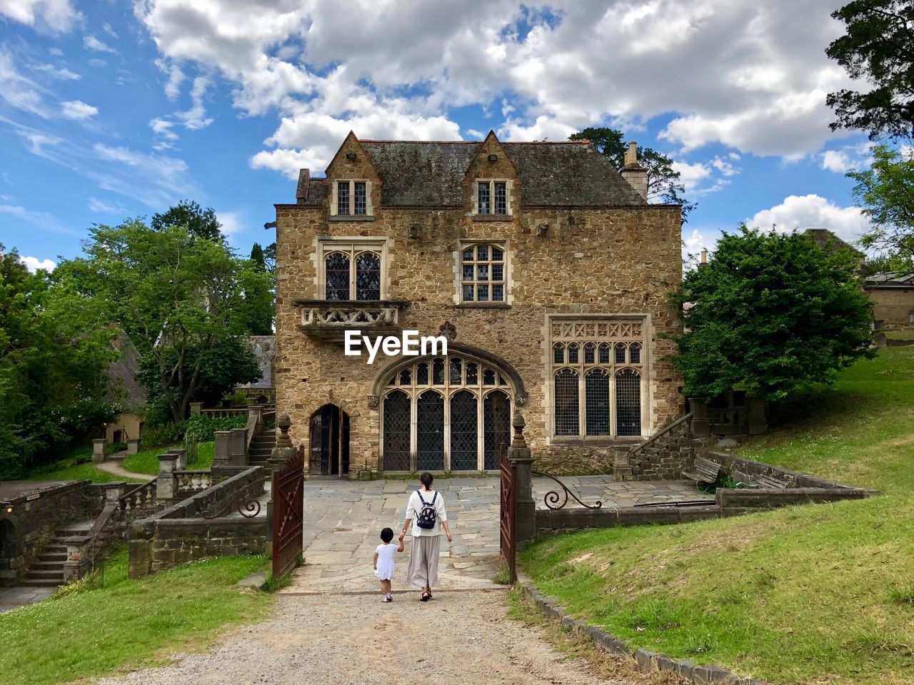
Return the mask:
<path id="1" fill-rule="evenodd" d="M 21 485 L 0 501 L 0 585 L 15 585 L 58 528 L 101 506 L 101 490 L 89 480 Z"/>

